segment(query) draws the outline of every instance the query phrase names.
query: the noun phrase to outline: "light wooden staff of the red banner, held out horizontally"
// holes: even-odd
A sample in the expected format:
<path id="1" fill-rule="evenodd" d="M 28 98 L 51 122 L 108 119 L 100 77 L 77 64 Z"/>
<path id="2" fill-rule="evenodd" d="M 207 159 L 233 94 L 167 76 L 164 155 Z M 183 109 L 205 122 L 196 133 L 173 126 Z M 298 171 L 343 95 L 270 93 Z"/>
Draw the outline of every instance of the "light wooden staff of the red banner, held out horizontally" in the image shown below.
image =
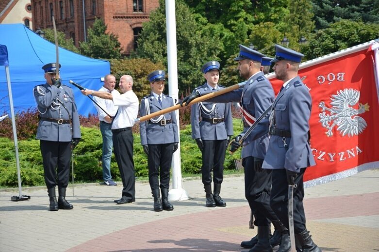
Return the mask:
<path id="1" fill-rule="evenodd" d="M 198 102 L 201 102 L 201 101 L 205 101 L 205 100 L 208 100 L 210 98 L 216 97 L 216 96 L 221 95 L 221 94 L 229 93 L 229 92 L 231 92 L 233 90 L 236 90 L 236 89 L 239 89 L 240 87 L 243 87 L 245 85 L 245 83 L 246 83 L 246 81 L 238 83 L 238 84 L 235 84 L 233 86 L 230 86 L 230 87 L 227 87 L 227 88 L 224 88 L 224 89 L 221 89 L 221 90 L 213 92 L 213 93 L 204 94 L 204 95 L 202 95 L 202 96 L 200 96 L 198 98 L 193 99 L 189 104 L 185 104 L 185 106 L 192 105 L 192 104 L 195 104 L 195 103 L 198 103 Z M 179 109 L 181 109 L 183 107 L 180 104 L 177 104 L 177 105 L 171 106 L 169 108 L 166 108 L 166 109 L 163 109 L 163 110 L 159 110 L 159 111 L 156 111 L 154 113 L 151 113 L 151 114 L 148 114 L 148 115 L 145 115 L 145 116 L 141 116 L 141 117 L 135 119 L 134 122 L 135 123 L 145 122 L 147 120 L 150 120 L 153 117 L 160 116 L 160 115 L 163 115 L 165 113 L 169 113 L 169 112 L 174 111 L 174 110 L 179 110 Z"/>

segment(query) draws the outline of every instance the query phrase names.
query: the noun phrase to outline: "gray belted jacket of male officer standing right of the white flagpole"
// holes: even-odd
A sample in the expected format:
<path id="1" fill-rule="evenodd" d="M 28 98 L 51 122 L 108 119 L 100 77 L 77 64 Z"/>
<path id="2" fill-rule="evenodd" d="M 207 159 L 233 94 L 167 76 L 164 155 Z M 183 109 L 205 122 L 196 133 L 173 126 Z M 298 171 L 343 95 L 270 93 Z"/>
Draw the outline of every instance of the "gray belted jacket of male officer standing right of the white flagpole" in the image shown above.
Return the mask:
<path id="1" fill-rule="evenodd" d="M 217 90 L 224 89 L 225 87 L 217 85 Z M 198 90 L 201 93 L 210 91 L 209 86 L 205 83 L 202 86 L 195 88 L 194 92 Z M 224 118 L 224 122 L 214 124 L 201 120 L 202 118 Z M 233 135 L 233 121 L 231 118 L 231 104 L 230 103 L 212 103 L 204 101 L 192 105 L 191 108 L 191 127 L 192 138 L 206 141 L 226 140 L 228 136 Z"/>

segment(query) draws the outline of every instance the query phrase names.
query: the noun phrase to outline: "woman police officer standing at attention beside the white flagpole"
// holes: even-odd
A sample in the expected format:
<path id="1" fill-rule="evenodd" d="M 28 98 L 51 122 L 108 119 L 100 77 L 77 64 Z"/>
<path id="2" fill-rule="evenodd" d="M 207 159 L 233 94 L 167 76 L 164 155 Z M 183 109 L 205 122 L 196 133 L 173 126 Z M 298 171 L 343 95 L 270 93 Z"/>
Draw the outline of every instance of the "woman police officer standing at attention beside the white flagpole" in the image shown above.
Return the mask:
<path id="1" fill-rule="evenodd" d="M 165 71 L 157 70 L 148 75 L 151 94 L 141 100 L 140 116 L 175 105 L 174 99 L 163 94 Z M 141 123 L 141 144 L 148 155 L 148 182 L 154 198 L 154 211 L 174 210 L 168 202 L 170 168 L 173 153 L 178 149 L 179 135 L 175 111 L 154 117 Z M 158 175 L 161 186 L 159 186 Z M 159 193 L 162 192 L 162 201 Z"/>

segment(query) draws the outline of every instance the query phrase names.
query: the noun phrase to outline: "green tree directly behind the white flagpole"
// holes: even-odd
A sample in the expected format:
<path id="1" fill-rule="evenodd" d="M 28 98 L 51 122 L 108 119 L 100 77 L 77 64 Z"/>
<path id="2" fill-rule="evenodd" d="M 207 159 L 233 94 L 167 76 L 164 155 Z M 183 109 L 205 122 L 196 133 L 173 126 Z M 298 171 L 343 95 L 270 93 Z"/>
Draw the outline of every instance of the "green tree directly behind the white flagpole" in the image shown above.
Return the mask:
<path id="1" fill-rule="evenodd" d="M 215 43 L 204 46 L 208 38 L 203 37 L 217 29 L 206 29 L 197 22 L 199 15 L 195 15 L 183 0 L 175 1 L 176 9 L 176 34 L 177 34 L 177 57 L 178 57 L 178 86 L 180 92 L 188 88 L 193 89 L 203 81 L 200 68 L 203 63 L 215 57 L 219 53 L 220 45 Z M 200 18 L 201 19 L 201 18 Z M 216 31 L 215 33 L 220 33 Z M 219 34 L 220 35 L 220 34 Z M 160 0 L 160 7 L 150 14 L 148 22 L 143 24 L 138 39 L 136 55 L 150 59 L 154 63 L 167 64 L 166 47 L 166 18 L 165 1 Z M 169 75 L 169 73 L 168 73 Z M 168 82 L 170 78 L 168 77 Z"/>

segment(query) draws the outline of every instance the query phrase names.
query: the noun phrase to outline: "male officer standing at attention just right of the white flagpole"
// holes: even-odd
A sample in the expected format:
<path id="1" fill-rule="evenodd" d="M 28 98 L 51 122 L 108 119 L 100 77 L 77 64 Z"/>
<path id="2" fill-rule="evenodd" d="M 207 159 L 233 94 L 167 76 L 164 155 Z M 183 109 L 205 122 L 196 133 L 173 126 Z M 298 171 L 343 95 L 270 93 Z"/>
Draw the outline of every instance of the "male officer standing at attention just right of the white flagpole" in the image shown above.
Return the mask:
<path id="1" fill-rule="evenodd" d="M 225 87 L 218 85 L 220 63 L 211 61 L 201 68 L 207 82 L 193 92 L 215 92 Z M 192 138 L 201 151 L 201 178 L 204 184 L 206 206 L 226 206 L 220 197 L 224 176 L 225 151 L 233 135 L 231 105 L 229 103 L 199 102 L 191 109 Z M 214 193 L 212 194 L 212 175 Z"/>

